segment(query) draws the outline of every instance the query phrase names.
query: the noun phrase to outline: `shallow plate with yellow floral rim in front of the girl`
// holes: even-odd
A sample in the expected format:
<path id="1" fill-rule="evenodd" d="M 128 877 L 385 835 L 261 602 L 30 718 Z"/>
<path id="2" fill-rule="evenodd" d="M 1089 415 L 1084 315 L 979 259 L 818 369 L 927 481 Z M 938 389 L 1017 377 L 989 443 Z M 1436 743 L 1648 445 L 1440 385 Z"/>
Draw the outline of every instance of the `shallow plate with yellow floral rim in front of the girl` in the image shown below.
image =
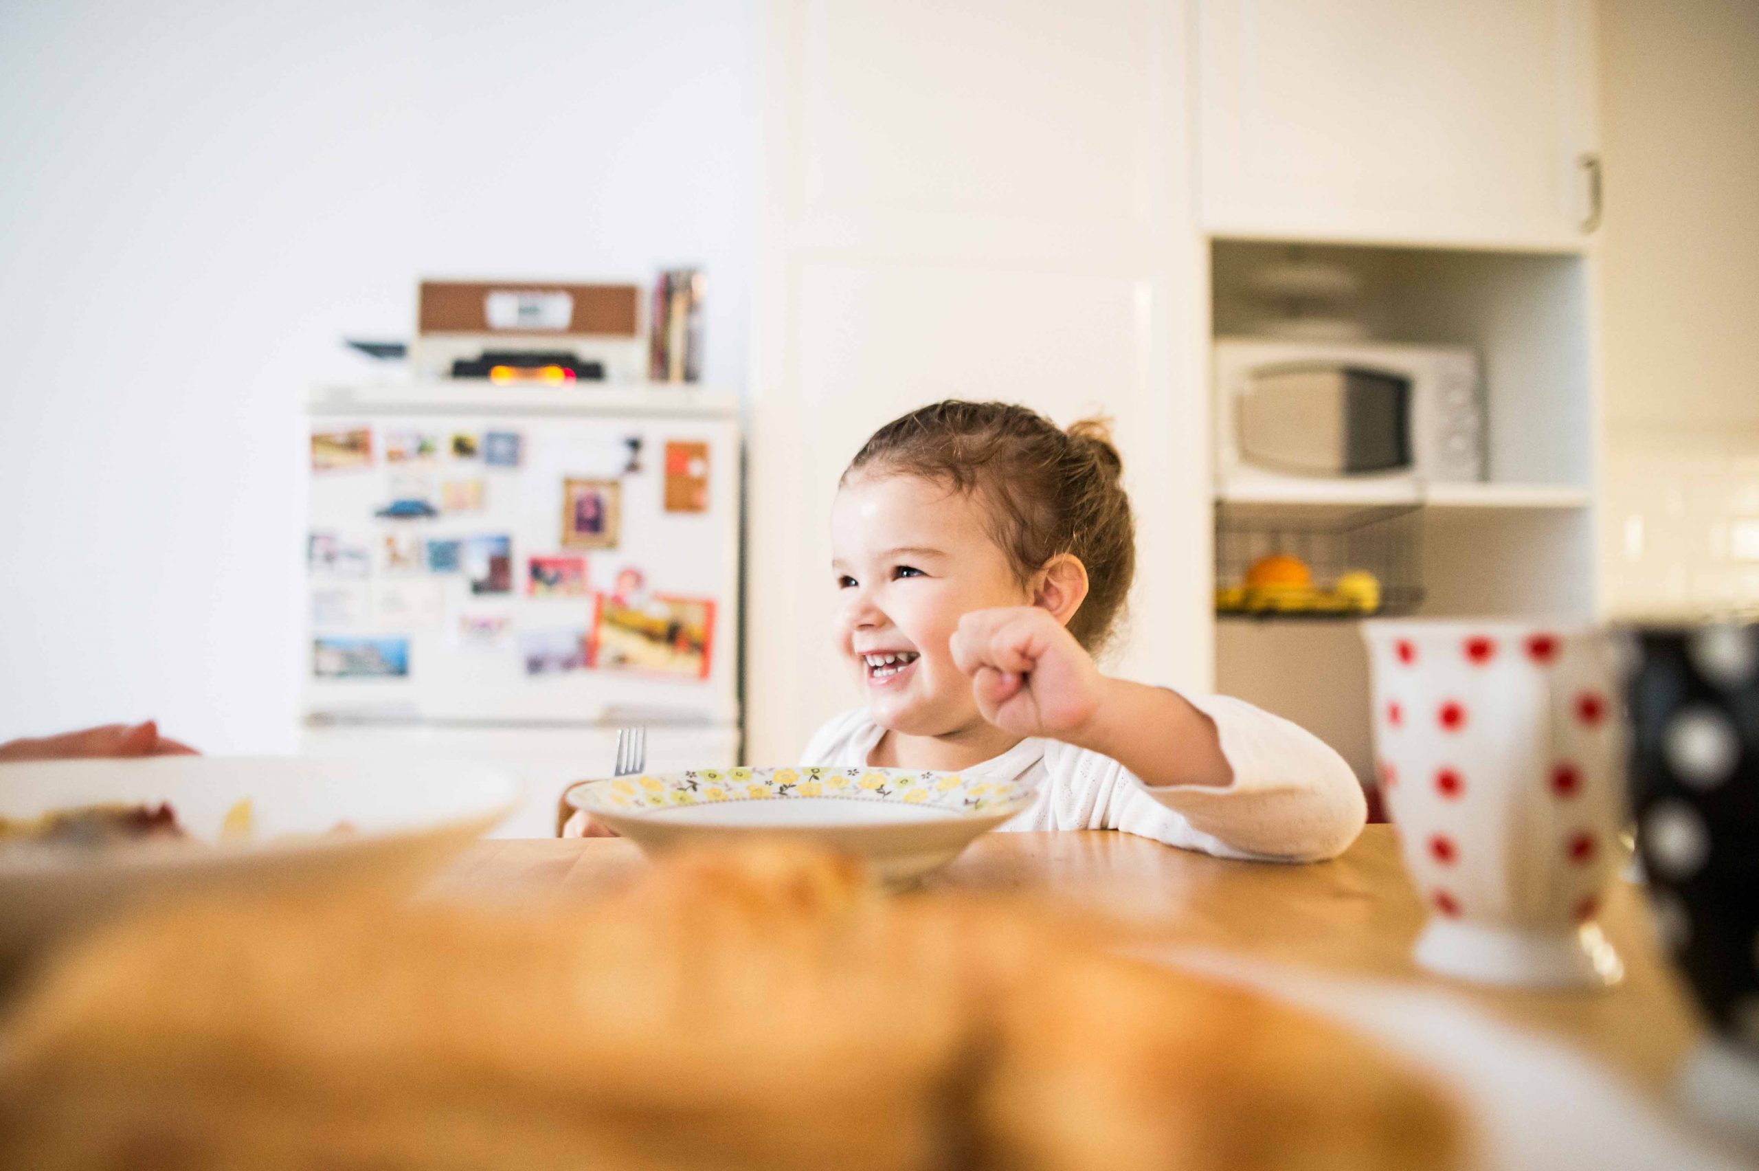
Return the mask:
<path id="1" fill-rule="evenodd" d="M 786 767 L 582 781 L 566 798 L 646 851 L 809 839 L 865 860 L 888 886 L 906 886 L 1031 805 L 1033 789 L 957 772 Z"/>

